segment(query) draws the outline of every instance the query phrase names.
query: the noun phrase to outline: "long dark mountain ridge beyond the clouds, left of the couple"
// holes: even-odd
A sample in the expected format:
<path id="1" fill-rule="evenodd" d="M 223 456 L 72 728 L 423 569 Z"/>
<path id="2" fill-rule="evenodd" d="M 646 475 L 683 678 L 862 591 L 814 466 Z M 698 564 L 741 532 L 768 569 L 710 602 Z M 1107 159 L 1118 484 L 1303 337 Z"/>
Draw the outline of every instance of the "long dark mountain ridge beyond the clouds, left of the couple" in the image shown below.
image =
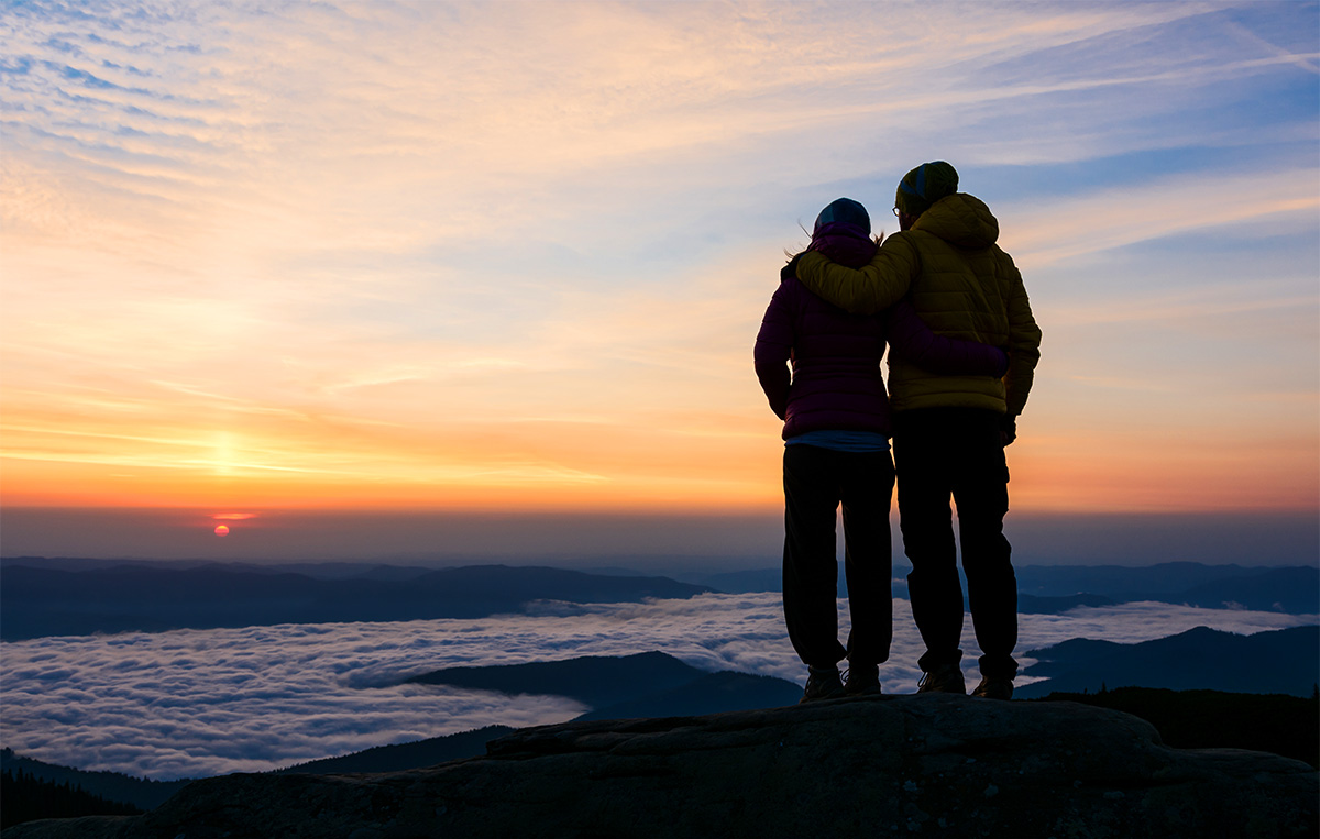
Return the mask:
<path id="1" fill-rule="evenodd" d="M 5 563 L 0 638 L 281 623 L 401 621 L 519 612 L 532 600 L 631 603 L 709 588 L 663 576 L 601 576 L 546 567 L 470 566 L 379 579 L 314 579 L 209 566 L 87 571 Z"/>

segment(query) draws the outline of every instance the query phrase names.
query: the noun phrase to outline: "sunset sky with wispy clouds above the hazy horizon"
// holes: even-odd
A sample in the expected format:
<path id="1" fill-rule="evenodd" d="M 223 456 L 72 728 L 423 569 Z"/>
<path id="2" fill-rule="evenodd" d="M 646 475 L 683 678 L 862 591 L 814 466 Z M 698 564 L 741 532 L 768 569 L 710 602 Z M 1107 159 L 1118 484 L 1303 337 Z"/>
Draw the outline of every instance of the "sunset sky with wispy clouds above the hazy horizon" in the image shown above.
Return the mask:
<path id="1" fill-rule="evenodd" d="M 1317 36 L 1291 0 L 7 3 L 0 551 L 631 516 L 772 554 L 785 251 L 845 195 L 892 230 L 946 160 L 1044 332 L 1010 533 L 1199 516 L 1315 561 Z M 345 525 L 387 513 L 432 526 Z"/>

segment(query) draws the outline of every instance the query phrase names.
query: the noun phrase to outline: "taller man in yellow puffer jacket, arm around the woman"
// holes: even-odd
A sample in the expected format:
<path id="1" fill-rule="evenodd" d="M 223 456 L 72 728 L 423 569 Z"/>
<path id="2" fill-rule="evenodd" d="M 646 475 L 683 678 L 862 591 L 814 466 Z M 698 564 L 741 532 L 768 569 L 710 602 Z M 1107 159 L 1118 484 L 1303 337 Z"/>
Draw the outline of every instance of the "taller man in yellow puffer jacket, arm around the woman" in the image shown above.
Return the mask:
<path id="1" fill-rule="evenodd" d="M 898 470 L 903 547 L 912 562 L 908 595 L 927 652 L 921 691 L 966 693 L 962 584 L 949 496 L 958 509 L 962 569 L 972 623 L 981 646 L 982 679 L 973 695 L 1008 699 L 1018 662 L 1018 580 L 1003 536 L 1008 468 L 1003 447 L 1040 359 L 1040 328 L 1012 257 L 995 240 L 999 223 L 979 199 L 958 193 L 958 173 L 944 161 L 903 177 L 895 198 L 902 232 L 859 269 L 808 251 L 797 278 L 826 301 L 871 314 L 911 298 L 939 335 L 1002 347 L 1008 372 L 993 376 L 932 373 L 890 348 L 894 464 Z"/>

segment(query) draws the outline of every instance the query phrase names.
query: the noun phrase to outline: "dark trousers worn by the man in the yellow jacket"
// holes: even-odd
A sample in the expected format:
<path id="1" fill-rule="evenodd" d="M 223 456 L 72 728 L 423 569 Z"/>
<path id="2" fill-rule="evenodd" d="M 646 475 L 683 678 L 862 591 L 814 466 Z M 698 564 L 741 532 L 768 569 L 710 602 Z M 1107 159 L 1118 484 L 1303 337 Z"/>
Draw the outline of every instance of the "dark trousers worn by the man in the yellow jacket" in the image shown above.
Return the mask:
<path id="1" fill-rule="evenodd" d="M 912 561 L 908 595 L 925 654 L 923 670 L 962 658 L 962 584 L 949 496 L 958 508 L 968 607 L 981 646 L 981 673 L 1012 678 L 1018 662 L 1018 579 L 1003 536 L 1008 467 L 999 437 L 1002 414 L 973 408 L 929 408 L 894 414 L 903 547 Z"/>

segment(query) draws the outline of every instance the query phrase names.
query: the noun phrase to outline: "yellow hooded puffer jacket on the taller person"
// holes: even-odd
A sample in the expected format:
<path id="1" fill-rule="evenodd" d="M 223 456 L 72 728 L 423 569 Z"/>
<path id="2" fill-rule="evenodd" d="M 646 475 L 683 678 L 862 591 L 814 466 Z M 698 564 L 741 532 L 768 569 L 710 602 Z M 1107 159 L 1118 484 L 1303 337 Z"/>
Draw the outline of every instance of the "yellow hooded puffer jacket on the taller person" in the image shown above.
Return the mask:
<path id="1" fill-rule="evenodd" d="M 1040 360 L 1040 327 L 1012 257 L 995 240 L 999 222 L 983 202 L 957 193 L 931 204 L 912 227 L 894 233 L 870 265 L 845 268 L 817 251 L 797 261 L 797 278 L 826 301 L 857 314 L 888 309 L 911 294 L 937 335 L 977 340 L 1008 352 L 1008 373 L 941 376 L 890 354 L 894 410 L 987 408 L 1022 413 Z"/>

